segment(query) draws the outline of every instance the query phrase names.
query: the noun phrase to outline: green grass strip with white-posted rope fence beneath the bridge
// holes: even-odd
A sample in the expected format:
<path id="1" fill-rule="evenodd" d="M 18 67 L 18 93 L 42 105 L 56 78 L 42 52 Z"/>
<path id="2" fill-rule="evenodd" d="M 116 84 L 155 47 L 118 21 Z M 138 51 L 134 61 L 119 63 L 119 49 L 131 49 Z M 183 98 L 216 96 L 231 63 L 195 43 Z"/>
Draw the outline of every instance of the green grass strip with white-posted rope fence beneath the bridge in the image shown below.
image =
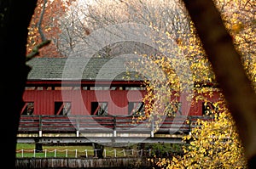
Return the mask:
<path id="1" fill-rule="evenodd" d="M 35 144 L 17 144 L 16 157 L 33 158 L 79 158 L 93 157 L 94 149 L 91 144 L 76 145 L 49 145 L 42 146 L 42 151 L 36 151 Z M 143 151 L 141 151 L 143 149 Z M 149 150 L 150 149 L 150 150 Z M 134 144 L 129 147 L 104 146 L 103 157 L 135 157 L 140 155 L 168 157 L 181 153 L 181 145 L 178 144 Z"/>

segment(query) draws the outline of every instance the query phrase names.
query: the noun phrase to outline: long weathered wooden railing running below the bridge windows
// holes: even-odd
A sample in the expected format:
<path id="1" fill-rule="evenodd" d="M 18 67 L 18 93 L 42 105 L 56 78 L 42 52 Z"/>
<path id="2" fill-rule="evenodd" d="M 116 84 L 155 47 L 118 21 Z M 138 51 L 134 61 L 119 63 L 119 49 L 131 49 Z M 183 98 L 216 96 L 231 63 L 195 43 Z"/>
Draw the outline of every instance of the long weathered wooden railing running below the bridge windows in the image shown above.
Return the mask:
<path id="1" fill-rule="evenodd" d="M 152 121 L 137 121 L 133 116 L 96 115 L 21 115 L 19 133 L 189 133 L 197 119 L 212 121 L 210 116 L 166 116 Z"/>

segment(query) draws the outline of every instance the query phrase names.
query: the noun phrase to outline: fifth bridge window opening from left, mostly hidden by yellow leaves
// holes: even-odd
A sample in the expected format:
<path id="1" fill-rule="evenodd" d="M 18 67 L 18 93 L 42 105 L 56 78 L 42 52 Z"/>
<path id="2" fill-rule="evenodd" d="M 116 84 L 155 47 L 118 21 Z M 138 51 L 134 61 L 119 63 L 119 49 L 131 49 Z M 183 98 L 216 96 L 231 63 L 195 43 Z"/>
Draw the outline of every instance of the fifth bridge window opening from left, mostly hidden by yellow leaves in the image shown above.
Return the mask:
<path id="1" fill-rule="evenodd" d="M 183 115 L 181 102 L 167 102 L 166 103 L 167 116 Z"/>

